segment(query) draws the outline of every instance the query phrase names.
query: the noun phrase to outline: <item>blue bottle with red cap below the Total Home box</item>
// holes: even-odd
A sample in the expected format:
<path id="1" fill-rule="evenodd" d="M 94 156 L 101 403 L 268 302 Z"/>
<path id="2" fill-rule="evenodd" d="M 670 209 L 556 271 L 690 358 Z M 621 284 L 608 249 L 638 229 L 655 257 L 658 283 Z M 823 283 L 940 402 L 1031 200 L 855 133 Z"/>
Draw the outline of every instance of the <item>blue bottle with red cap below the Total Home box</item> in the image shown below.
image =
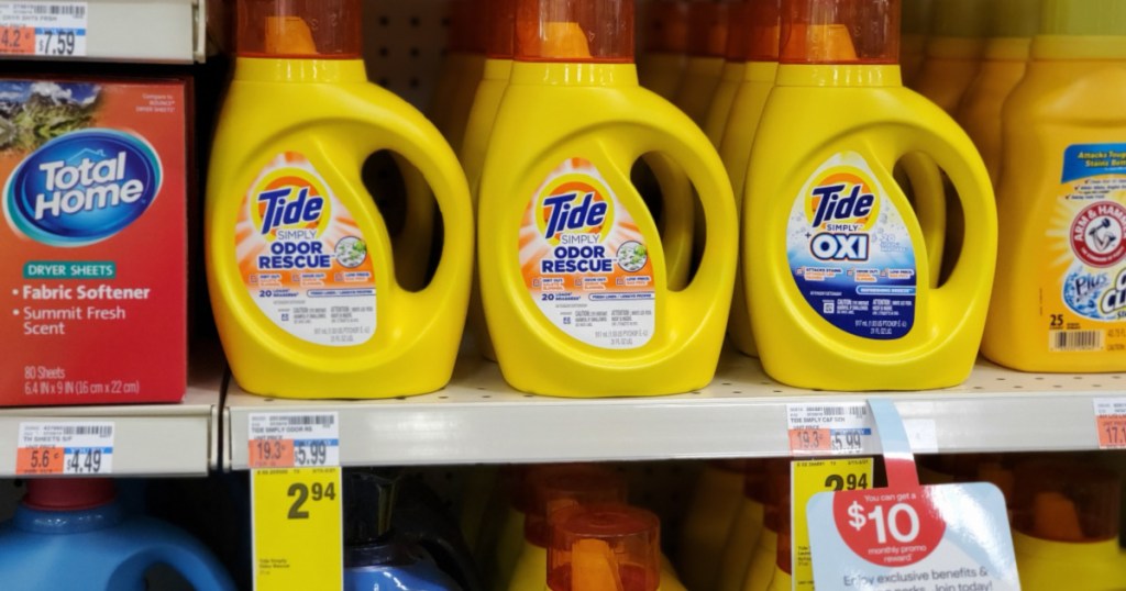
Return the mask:
<path id="1" fill-rule="evenodd" d="M 144 591 L 158 564 L 197 591 L 234 591 L 212 553 L 155 519 L 128 514 L 107 480 L 33 480 L 16 517 L 0 526 L 0 588 Z"/>

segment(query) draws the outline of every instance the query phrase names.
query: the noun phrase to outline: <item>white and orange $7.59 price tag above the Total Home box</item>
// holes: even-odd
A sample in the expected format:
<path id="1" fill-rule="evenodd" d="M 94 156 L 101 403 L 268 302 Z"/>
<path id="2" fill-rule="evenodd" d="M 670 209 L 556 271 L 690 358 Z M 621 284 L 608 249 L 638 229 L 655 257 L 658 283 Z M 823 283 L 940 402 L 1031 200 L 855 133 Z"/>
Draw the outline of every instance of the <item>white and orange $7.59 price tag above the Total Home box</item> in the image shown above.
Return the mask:
<path id="1" fill-rule="evenodd" d="M 83 56 L 87 2 L 0 1 L 0 54 Z"/>

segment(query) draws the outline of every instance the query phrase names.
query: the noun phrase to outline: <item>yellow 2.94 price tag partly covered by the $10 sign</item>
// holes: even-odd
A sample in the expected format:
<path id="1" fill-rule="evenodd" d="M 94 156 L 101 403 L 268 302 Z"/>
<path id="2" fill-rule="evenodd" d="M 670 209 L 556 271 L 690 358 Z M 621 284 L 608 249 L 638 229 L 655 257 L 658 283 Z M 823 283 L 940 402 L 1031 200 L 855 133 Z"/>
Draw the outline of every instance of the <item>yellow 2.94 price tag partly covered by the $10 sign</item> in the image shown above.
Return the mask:
<path id="1" fill-rule="evenodd" d="M 792 464 L 794 496 L 790 523 L 795 590 L 813 589 L 813 555 L 810 552 L 810 530 L 805 525 L 805 505 L 820 492 L 870 489 L 873 465 L 872 458 L 811 459 Z M 825 527 L 830 526 L 825 523 Z"/>

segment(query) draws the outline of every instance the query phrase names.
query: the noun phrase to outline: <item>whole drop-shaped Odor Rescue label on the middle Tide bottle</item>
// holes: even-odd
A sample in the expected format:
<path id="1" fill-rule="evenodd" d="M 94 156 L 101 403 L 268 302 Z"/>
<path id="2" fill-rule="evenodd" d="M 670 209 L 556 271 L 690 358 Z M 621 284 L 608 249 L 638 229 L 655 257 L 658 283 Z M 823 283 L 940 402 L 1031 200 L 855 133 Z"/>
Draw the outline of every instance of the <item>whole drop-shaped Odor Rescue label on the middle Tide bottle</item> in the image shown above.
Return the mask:
<path id="1" fill-rule="evenodd" d="M 589 161 L 564 162 L 531 197 L 519 252 L 528 293 L 563 332 L 604 349 L 653 338 L 656 283 L 645 236 Z"/>

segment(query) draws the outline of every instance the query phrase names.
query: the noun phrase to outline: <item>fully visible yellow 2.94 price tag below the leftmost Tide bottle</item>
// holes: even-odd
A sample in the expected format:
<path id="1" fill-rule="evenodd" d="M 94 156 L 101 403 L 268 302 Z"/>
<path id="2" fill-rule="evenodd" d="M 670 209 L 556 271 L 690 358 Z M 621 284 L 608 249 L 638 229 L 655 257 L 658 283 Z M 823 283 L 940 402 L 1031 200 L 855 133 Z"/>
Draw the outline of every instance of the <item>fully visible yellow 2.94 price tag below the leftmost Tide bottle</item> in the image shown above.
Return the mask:
<path id="1" fill-rule="evenodd" d="M 343 588 L 339 467 L 251 473 L 254 589 Z"/>

